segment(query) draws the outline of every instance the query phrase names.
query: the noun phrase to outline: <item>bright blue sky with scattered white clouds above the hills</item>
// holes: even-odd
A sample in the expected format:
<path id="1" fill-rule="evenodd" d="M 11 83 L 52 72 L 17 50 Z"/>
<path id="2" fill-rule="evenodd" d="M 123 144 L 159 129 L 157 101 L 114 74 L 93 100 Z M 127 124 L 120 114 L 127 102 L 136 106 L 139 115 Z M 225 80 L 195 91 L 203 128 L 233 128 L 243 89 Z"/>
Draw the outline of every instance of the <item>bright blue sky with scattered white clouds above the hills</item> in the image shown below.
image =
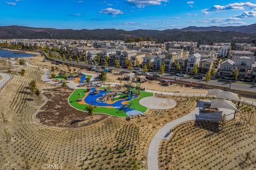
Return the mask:
<path id="1" fill-rule="evenodd" d="M 256 0 L 0 0 L 0 25 L 174 29 L 256 23 Z"/>

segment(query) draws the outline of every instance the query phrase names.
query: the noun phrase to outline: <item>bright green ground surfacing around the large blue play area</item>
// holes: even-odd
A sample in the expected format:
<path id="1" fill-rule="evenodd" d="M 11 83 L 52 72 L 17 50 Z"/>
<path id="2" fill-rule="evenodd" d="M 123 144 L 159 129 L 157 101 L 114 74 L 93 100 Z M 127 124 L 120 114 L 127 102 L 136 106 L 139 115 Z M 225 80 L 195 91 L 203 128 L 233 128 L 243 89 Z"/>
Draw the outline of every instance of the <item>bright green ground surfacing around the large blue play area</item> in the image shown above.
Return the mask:
<path id="1" fill-rule="evenodd" d="M 82 97 L 85 96 L 85 93 L 86 93 L 86 89 L 76 89 L 70 96 L 69 96 L 69 104 L 81 111 L 87 111 L 86 110 L 86 105 L 81 105 L 81 104 L 78 104 L 77 103 L 77 99 L 80 98 L 80 96 L 78 94 L 81 94 Z M 144 98 L 144 97 L 149 97 L 149 96 L 153 96 L 154 94 L 153 93 L 150 93 L 150 92 L 145 92 L 145 91 L 141 91 L 140 93 L 140 97 L 137 98 L 137 99 L 133 99 L 131 101 L 129 101 L 129 104 L 132 104 L 131 105 L 131 108 L 134 108 L 137 110 L 137 111 L 140 111 L 140 112 L 146 112 L 147 111 L 147 107 L 145 106 L 141 106 L 139 104 L 139 100 Z M 126 113 L 124 111 L 119 111 L 118 109 L 116 108 L 107 108 L 107 107 L 95 107 L 94 108 L 94 113 L 103 113 L 103 114 L 108 114 L 108 115 L 111 115 L 111 116 L 119 116 L 119 117 L 126 117 Z"/>

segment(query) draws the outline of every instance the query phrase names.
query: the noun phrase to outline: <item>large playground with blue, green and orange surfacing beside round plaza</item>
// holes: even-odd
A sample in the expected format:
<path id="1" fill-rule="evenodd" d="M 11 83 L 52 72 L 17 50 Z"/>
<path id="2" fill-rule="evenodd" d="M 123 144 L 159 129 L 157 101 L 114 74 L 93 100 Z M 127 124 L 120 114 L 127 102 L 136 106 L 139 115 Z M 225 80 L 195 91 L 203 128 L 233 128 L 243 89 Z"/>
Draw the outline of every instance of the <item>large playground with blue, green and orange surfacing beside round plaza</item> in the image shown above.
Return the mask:
<path id="1" fill-rule="evenodd" d="M 81 111 L 87 111 L 87 105 L 92 105 L 94 113 L 127 117 L 145 113 L 148 108 L 139 101 L 150 96 L 153 96 L 153 93 L 125 84 L 123 87 L 76 89 L 68 101 L 71 106 Z"/>

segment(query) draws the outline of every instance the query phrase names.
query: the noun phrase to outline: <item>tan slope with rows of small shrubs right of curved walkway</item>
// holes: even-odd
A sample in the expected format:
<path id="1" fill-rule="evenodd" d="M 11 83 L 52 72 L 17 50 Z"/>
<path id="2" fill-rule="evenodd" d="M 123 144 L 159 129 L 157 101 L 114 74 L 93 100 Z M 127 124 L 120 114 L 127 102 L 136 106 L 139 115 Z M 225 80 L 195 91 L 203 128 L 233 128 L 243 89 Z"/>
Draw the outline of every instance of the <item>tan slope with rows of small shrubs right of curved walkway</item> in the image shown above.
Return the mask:
<path id="1" fill-rule="evenodd" d="M 256 116 L 255 110 L 251 111 L 254 114 L 248 124 L 251 113 L 245 108 L 242 105 L 236 120 L 223 126 L 206 121 L 176 126 L 170 139 L 159 147 L 159 169 L 255 169 Z"/>

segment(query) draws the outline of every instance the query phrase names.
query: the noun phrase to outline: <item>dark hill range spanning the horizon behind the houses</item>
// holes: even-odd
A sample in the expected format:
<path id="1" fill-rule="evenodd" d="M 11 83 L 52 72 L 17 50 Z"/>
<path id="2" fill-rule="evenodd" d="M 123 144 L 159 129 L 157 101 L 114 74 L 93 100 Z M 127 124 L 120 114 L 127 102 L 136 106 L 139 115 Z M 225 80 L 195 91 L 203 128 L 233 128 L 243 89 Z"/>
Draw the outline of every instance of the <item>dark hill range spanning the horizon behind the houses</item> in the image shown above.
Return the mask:
<path id="1" fill-rule="evenodd" d="M 251 43 L 256 39 L 256 24 L 238 27 L 187 27 L 168 30 L 116 30 L 94 29 L 73 30 L 54 28 L 31 28 L 18 25 L 0 27 L 0 38 L 28 39 L 95 39 L 124 40 L 127 37 L 152 37 L 158 42 L 163 41 L 197 41 L 199 44 L 213 42 Z"/>

